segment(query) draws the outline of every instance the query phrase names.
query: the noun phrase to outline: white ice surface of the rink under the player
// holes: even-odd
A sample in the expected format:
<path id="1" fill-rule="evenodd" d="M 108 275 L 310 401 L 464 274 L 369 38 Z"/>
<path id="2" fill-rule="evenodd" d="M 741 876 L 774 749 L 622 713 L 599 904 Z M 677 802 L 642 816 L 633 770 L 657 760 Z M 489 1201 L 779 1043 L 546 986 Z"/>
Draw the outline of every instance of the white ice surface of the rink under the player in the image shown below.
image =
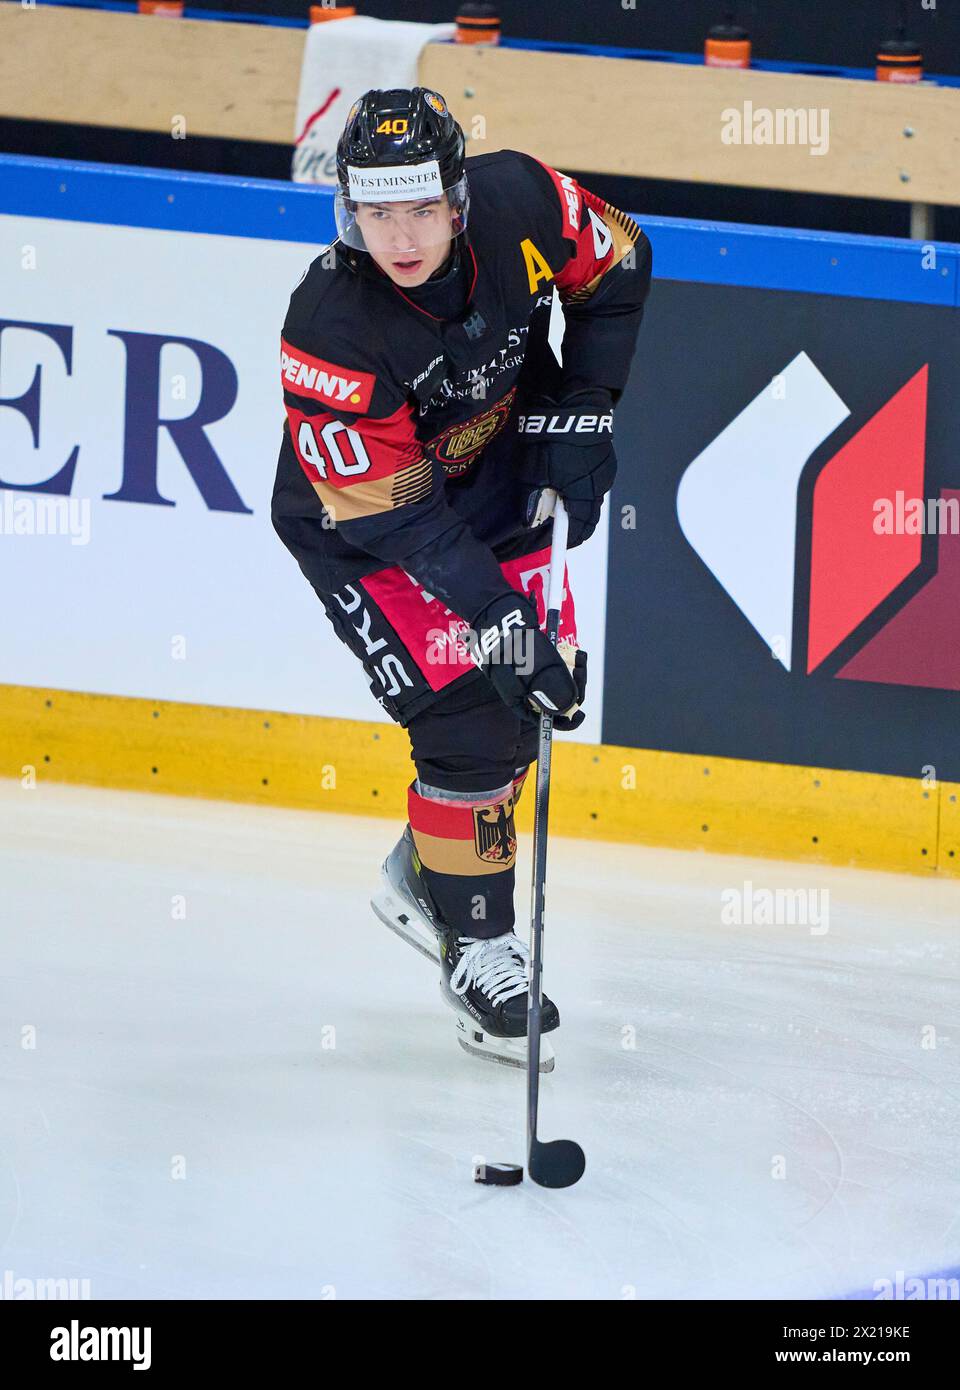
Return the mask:
<path id="1" fill-rule="evenodd" d="M 778 1298 L 957 1264 L 959 883 L 556 841 L 540 1134 L 586 1175 L 482 1188 L 524 1077 L 367 906 L 399 823 L 3 781 L 0 826 L 0 1282 Z M 745 881 L 827 890 L 828 930 L 724 924 Z"/>

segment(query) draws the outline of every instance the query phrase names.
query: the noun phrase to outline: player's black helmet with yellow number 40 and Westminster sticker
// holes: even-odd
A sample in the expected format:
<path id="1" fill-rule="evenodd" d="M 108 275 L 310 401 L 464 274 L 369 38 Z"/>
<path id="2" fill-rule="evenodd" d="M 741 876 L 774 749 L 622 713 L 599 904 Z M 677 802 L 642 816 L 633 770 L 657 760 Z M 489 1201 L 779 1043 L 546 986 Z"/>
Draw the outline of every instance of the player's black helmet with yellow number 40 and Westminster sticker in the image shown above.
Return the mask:
<path id="1" fill-rule="evenodd" d="M 446 200 L 453 220 L 445 235 L 467 225 L 464 133 L 439 92 L 393 88 L 364 92 L 350 107 L 336 146 L 336 227 L 340 240 L 365 243 L 356 221 L 358 203 Z"/>

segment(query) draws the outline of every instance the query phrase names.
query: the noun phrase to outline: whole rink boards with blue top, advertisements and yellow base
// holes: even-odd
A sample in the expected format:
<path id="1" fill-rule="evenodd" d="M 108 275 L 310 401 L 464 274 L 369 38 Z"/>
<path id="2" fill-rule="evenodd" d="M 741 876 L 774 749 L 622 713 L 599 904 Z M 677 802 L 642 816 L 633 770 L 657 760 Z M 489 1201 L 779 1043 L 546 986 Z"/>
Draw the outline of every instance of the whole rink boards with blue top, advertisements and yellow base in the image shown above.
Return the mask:
<path id="1" fill-rule="evenodd" d="M 7 156 L 0 174 L 0 582 L 29 595 L 0 648 L 3 774 L 400 817 L 404 735 L 268 516 L 276 338 L 332 234 L 329 193 Z M 811 556 L 821 478 L 888 409 L 927 492 L 960 489 L 957 247 L 640 221 L 654 288 L 620 475 L 609 527 L 570 562 L 603 681 L 558 741 L 557 827 L 954 874 L 954 542 L 922 537 L 839 639 Z M 764 399 L 778 381 L 784 421 Z M 779 491 L 745 495 L 757 545 L 747 530 L 724 549 L 704 460 L 735 489 L 729 441 L 757 416 Z M 820 417 L 792 460 L 792 421 Z M 78 532 L 21 534 L 14 505 L 50 499 L 86 509 Z M 928 627 L 899 660 L 916 605 Z"/>

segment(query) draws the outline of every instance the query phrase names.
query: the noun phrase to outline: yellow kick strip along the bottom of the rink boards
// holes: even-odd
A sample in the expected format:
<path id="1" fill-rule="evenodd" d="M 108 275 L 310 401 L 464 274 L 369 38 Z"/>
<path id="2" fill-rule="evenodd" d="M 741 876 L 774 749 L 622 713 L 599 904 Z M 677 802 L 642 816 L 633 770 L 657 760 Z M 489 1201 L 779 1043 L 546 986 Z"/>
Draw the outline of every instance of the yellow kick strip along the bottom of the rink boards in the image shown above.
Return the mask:
<path id="1" fill-rule="evenodd" d="M 406 817 L 396 724 L 0 685 L 0 776 Z M 533 795 L 517 821 L 529 830 Z M 960 877 L 960 784 L 734 758 L 554 749 L 561 835 Z"/>

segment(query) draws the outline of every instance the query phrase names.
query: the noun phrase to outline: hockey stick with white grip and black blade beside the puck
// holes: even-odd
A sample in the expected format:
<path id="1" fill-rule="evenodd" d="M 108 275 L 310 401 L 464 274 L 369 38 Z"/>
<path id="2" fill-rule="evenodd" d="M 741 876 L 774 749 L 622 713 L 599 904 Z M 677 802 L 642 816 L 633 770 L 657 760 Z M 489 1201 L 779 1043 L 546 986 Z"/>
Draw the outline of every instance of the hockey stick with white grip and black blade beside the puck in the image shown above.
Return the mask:
<path id="1" fill-rule="evenodd" d="M 553 509 L 550 582 L 546 599 L 546 635 L 557 645 L 560 605 L 567 560 L 567 509 L 557 496 Z M 540 1187 L 572 1187 L 584 1176 L 586 1156 L 571 1138 L 543 1143 L 536 1137 L 540 1095 L 540 1013 L 543 1006 L 543 890 L 546 884 L 547 813 L 550 808 L 550 758 L 553 716 L 540 716 L 536 751 L 536 806 L 533 815 L 533 884 L 531 892 L 531 973 L 527 1011 L 527 1170 Z"/>

